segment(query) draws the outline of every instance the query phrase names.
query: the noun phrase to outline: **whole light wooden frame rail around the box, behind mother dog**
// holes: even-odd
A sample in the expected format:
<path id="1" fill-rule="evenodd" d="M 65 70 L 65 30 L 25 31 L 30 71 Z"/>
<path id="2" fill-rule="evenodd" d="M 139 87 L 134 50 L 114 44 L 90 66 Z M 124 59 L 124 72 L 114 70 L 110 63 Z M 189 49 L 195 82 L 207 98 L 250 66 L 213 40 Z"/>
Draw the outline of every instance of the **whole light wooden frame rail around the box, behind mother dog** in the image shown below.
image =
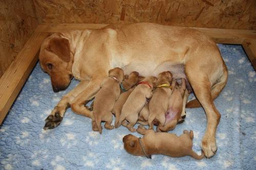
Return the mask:
<path id="1" fill-rule="evenodd" d="M 16 59 L 0 79 L 0 124 L 2 124 L 20 89 L 30 75 L 38 60 L 42 41 L 54 32 L 70 30 L 100 29 L 106 24 L 63 23 L 39 25 Z M 229 30 L 212 28 L 193 28 L 215 40 L 216 43 L 241 44 L 256 70 L 256 30 Z"/>

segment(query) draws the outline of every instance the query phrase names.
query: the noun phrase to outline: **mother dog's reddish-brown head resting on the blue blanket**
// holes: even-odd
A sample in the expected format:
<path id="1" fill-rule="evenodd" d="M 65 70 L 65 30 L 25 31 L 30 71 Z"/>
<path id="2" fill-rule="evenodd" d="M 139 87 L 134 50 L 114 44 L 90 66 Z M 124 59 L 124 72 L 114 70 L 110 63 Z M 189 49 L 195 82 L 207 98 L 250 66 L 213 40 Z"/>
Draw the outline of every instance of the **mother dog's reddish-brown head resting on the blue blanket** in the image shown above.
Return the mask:
<path id="1" fill-rule="evenodd" d="M 54 92 L 65 90 L 73 78 L 69 39 L 56 33 L 41 44 L 39 61 L 42 70 L 51 77 Z"/>

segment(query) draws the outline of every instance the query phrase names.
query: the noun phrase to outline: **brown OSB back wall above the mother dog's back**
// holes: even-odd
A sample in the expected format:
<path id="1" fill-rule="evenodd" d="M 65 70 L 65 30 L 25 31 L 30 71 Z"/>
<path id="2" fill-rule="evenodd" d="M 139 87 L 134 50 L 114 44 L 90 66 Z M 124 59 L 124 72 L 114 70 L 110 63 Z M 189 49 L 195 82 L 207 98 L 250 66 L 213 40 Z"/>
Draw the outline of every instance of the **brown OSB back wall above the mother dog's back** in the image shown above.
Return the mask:
<path id="1" fill-rule="evenodd" d="M 256 0 L 34 0 L 45 23 L 133 23 L 256 29 Z"/>

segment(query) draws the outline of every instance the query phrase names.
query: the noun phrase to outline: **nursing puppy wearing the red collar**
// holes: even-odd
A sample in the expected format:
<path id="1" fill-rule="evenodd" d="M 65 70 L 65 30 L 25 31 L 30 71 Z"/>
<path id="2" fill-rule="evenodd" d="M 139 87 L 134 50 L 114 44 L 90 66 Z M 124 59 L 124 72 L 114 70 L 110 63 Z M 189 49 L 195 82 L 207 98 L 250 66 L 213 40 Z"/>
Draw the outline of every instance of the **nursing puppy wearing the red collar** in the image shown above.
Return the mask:
<path id="1" fill-rule="evenodd" d="M 133 126 L 138 120 L 139 112 L 146 104 L 146 99 L 150 99 L 152 97 L 152 90 L 156 81 L 156 77 L 150 76 L 139 82 L 139 85 L 135 87 L 123 105 L 117 127 L 122 124 L 131 132 L 136 131 Z M 124 121 L 125 119 L 129 122 L 129 124 Z"/>

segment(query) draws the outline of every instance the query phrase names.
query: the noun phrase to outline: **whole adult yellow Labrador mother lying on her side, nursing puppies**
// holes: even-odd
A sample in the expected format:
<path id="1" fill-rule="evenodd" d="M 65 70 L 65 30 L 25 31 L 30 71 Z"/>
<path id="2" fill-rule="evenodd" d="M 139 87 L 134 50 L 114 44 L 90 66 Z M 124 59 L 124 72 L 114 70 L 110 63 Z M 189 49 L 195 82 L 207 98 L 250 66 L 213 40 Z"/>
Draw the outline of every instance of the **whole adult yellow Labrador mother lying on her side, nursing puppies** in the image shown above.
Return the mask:
<path id="1" fill-rule="evenodd" d="M 75 113 L 92 117 L 84 103 L 94 98 L 114 67 L 144 77 L 169 70 L 174 79 L 186 78 L 194 90 L 197 100 L 187 107 L 204 108 L 207 127 L 201 147 L 206 157 L 215 155 L 221 115 L 213 100 L 226 85 L 228 74 L 216 43 L 203 33 L 155 23 L 55 33 L 42 43 L 39 60 L 55 92 L 66 89 L 72 77 L 81 81 L 46 118 L 45 129 L 58 126 L 70 106 Z"/>

